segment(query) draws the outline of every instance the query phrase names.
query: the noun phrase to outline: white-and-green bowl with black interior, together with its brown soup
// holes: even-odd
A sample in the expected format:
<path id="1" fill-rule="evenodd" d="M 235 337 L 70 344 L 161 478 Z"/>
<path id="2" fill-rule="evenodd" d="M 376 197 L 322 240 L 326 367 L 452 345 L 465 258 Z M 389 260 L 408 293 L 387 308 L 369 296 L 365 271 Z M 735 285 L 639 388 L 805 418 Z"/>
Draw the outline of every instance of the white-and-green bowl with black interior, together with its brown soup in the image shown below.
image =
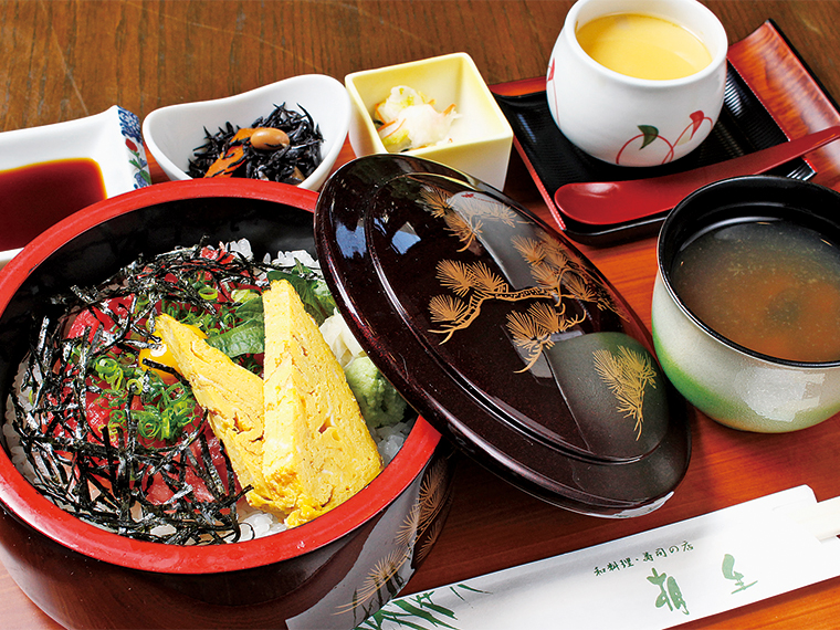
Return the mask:
<path id="1" fill-rule="evenodd" d="M 662 225 L 652 328 L 662 369 L 708 417 L 786 432 L 840 411 L 840 195 L 720 181 Z"/>

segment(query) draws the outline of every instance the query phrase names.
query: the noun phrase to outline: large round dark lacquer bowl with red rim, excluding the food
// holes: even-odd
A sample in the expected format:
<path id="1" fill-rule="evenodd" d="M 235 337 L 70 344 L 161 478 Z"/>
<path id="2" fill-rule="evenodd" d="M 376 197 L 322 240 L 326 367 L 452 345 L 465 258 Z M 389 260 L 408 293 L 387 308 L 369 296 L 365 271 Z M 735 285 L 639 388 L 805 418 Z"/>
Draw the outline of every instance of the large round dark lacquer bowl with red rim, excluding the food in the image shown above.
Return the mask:
<path id="1" fill-rule="evenodd" d="M 73 214 L 0 274 L 0 398 L 27 351 L 32 314 L 139 254 L 246 238 L 254 253 L 313 255 L 316 193 L 282 183 L 179 181 Z M 335 510 L 250 542 L 140 542 L 56 507 L 0 445 L 0 560 L 67 628 L 354 628 L 408 581 L 449 510 L 448 442 L 419 419 L 379 476 Z"/>

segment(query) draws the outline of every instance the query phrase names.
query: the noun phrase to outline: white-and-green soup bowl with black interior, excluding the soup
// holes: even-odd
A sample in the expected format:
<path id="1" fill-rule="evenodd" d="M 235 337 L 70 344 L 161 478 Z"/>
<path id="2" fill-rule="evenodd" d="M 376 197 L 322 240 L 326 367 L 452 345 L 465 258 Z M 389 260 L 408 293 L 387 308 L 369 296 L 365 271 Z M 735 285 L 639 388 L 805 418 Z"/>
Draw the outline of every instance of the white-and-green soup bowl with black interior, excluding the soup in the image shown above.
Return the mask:
<path id="1" fill-rule="evenodd" d="M 652 328 L 662 369 L 697 409 L 744 431 L 796 431 L 838 413 L 840 360 L 791 361 L 739 346 L 683 303 L 672 269 L 686 243 L 715 225 L 779 220 L 840 245 L 840 195 L 774 176 L 733 178 L 695 191 L 659 235 Z"/>

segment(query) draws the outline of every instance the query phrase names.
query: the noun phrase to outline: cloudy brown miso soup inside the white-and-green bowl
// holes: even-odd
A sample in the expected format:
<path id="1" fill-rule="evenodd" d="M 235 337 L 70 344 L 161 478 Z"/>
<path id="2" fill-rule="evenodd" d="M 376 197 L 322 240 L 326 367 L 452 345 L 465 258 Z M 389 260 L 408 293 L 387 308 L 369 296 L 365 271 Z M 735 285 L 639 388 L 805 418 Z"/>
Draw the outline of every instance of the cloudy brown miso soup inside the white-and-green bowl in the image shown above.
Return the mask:
<path id="1" fill-rule="evenodd" d="M 840 249 L 786 221 L 717 227 L 671 269 L 683 304 L 736 344 L 795 361 L 840 360 Z"/>

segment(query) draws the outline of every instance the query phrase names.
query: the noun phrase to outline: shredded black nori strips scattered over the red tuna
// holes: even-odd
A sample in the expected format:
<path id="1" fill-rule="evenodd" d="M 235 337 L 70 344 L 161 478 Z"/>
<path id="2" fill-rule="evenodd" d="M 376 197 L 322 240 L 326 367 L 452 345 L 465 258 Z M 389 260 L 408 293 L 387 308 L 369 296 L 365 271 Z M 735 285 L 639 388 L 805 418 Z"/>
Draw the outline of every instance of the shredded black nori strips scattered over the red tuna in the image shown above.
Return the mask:
<path id="1" fill-rule="evenodd" d="M 74 286 L 53 297 L 64 314 L 35 323 L 22 384 L 11 397 L 12 426 L 39 491 L 87 522 L 141 540 L 240 539 L 237 502 L 250 489 L 237 489 L 227 455 L 224 479 L 219 474 L 199 408 L 193 423 L 174 441 L 161 442 L 143 437 L 138 413 L 130 409 L 124 424 L 96 430 L 88 421 L 88 401 L 103 395 L 95 376 L 98 359 L 136 355 L 159 342 L 149 333 L 159 305 L 167 312 L 207 314 L 208 321 L 217 322 L 220 300 L 243 286 L 261 291 L 267 272 L 276 269 L 238 253 L 207 258 L 207 250 L 197 245 L 140 259 L 97 286 Z M 217 295 L 208 297 L 213 292 Z M 99 321 L 104 316 L 113 326 L 87 326 L 67 338 L 70 325 L 83 313 Z M 197 495 L 195 479 L 211 500 Z M 165 503 L 150 500 L 153 482 L 171 491 Z"/>

